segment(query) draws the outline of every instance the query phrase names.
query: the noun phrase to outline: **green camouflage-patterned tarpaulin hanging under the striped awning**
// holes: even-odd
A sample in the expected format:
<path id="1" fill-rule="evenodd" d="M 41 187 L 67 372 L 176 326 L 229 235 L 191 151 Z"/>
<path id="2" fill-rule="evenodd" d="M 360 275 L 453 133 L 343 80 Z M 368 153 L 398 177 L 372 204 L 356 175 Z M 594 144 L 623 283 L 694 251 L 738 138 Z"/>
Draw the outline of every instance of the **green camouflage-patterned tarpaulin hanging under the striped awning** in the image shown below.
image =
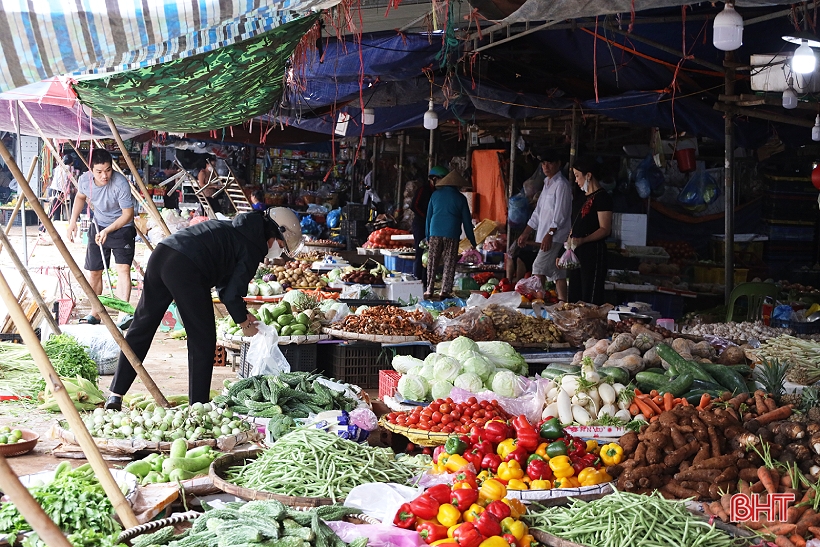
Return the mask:
<path id="1" fill-rule="evenodd" d="M 285 64 L 319 17 L 208 53 L 79 81 L 74 89 L 95 114 L 126 125 L 195 132 L 241 124 L 281 99 Z"/>

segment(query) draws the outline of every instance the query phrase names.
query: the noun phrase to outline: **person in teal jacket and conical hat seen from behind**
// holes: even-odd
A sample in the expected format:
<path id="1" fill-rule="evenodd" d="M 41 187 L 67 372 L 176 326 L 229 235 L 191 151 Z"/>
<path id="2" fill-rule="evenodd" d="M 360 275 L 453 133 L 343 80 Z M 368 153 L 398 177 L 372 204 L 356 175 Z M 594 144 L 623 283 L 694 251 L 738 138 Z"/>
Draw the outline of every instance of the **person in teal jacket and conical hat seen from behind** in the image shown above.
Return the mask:
<path id="1" fill-rule="evenodd" d="M 452 171 L 436 183 L 436 191 L 430 197 L 427 206 L 427 292 L 424 298 L 429 300 L 433 296 L 433 287 L 436 281 L 436 272 L 444 267 L 441 278 L 442 300 L 453 296 L 453 278 L 456 275 L 458 261 L 458 243 L 461 239 L 461 228 L 470 244 L 475 248 L 475 234 L 473 233 L 473 219 L 467 198 L 459 191 L 460 187 L 469 186 L 469 183 Z"/>

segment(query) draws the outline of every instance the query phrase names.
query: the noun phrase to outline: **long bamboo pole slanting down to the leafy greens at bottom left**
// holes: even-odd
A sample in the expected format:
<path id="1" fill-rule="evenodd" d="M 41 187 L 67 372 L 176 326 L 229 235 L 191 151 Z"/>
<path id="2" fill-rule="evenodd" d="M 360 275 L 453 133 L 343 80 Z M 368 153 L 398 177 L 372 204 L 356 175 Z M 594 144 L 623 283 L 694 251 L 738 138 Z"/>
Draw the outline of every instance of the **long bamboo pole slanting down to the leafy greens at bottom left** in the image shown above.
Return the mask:
<path id="1" fill-rule="evenodd" d="M 9 158 L 5 157 L 5 154 L 8 154 L 8 150 L 2 143 L 0 143 L 0 152 L 4 154 L 3 159 L 6 160 L 6 165 L 12 168 L 12 174 L 14 174 L 15 169 L 19 171 L 17 164 L 10 163 Z M 22 188 L 23 181 L 20 181 L 20 186 Z M 25 186 L 27 191 L 30 192 L 31 188 L 28 184 Z M 54 398 L 57 400 L 57 405 L 60 407 L 60 411 L 68 421 L 72 433 L 74 433 L 74 436 L 77 437 L 80 447 L 83 449 L 83 454 L 85 454 L 88 463 L 90 463 L 92 469 L 94 469 L 94 474 L 100 481 L 100 484 L 105 490 L 105 494 L 108 496 L 108 499 L 111 500 L 111 504 L 114 506 L 114 510 L 120 517 L 123 526 L 126 528 L 137 526 L 139 522 L 137 522 L 137 518 L 131 510 L 131 505 L 129 505 L 120 490 L 119 485 L 117 485 L 117 481 L 115 481 L 114 477 L 111 475 L 111 471 L 108 469 L 108 464 L 105 463 L 105 460 L 100 454 L 99 448 L 97 448 L 97 445 L 94 444 L 94 439 L 91 438 L 91 434 L 88 432 L 88 429 L 85 428 L 85 424 L 83 423 L 82 418 L 80 418 L 80 413 L 77 412 L 76 408 L 74 408 L 74 401 L 71 400 L 71 397 L 65 389 L 63 382 L 54 370 L 51 361 L 48 359 L 48 355 L 46 355 L 46 350 L 43 349 L 40 340 L 34 333 L 34 328 L 28 322 L 28 318 L 26 318 L 23 308 L 21 308 L 20 303 L 17 302 L 17 297 L 12 294 L 11 287 L 9 287 L 6 277 L 2 272 L 0 272 L 0 298 L 2 298 L 3 303 L 6 305 L 9 315 L 11 316 L 12 321 L 14 321 L 14 325 L 17 327 L 17 331 L 20 333 L 20 336 L 23 337 L 23 343 L 25 343 L 26 348 L 28 348 L 29 352 L 31 352 L 34 363 L 37 365 L 37 368 L 40 370 L 40 374 L 46 381 L 46 385 L 51 390 Z"/>

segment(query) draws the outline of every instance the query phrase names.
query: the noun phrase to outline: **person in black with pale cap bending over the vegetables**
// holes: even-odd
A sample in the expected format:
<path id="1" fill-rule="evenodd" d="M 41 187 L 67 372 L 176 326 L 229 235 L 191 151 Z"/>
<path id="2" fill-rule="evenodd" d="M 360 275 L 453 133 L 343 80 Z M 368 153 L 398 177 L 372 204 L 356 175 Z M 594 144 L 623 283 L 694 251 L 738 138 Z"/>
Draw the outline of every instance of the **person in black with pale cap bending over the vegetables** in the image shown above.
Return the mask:
<path id="1" fill-rule="evenodd" d="M 125 336 L 137 358 L 145 359 L 168 306 L 176 301 L 188 334 L 188 398 L 192 404 L 208 402 L 216 350 L 211 287 L 242 334 L 256 334 L 256 318 L 242 297 L 263 259 L 276 258 L 283 249 L 297 250 L 302 238 L 298 226 L 296 215 L 280 208 L 270 215 L 242 213 L 232 222 L 200 222 L 160 241 L 148 260 L 144 290 Z M 120 353 L 105 407 L 120 409 L 135 378 L 131 363 Z"/>

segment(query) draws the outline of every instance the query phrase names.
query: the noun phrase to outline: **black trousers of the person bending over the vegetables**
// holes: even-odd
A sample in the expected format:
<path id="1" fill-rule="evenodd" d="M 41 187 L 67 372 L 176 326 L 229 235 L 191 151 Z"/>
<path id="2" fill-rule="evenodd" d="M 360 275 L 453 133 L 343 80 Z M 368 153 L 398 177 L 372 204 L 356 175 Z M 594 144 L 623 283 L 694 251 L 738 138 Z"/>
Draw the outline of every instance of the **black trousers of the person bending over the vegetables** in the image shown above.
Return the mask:
<path id="1" fill-rule="evenodd" d="M 126 342 L 140 361 L 145 359 L 168 305 L 176 301 L 188 334 L 188 397 L 191 404 L 208 402 L 216 351 L 210 285 L 191 259 L 160 244 L 148 260 L 144 287 Z M 131 363 L 120 353 L 111 391 L 125 395 L 136 376 Z"/>

